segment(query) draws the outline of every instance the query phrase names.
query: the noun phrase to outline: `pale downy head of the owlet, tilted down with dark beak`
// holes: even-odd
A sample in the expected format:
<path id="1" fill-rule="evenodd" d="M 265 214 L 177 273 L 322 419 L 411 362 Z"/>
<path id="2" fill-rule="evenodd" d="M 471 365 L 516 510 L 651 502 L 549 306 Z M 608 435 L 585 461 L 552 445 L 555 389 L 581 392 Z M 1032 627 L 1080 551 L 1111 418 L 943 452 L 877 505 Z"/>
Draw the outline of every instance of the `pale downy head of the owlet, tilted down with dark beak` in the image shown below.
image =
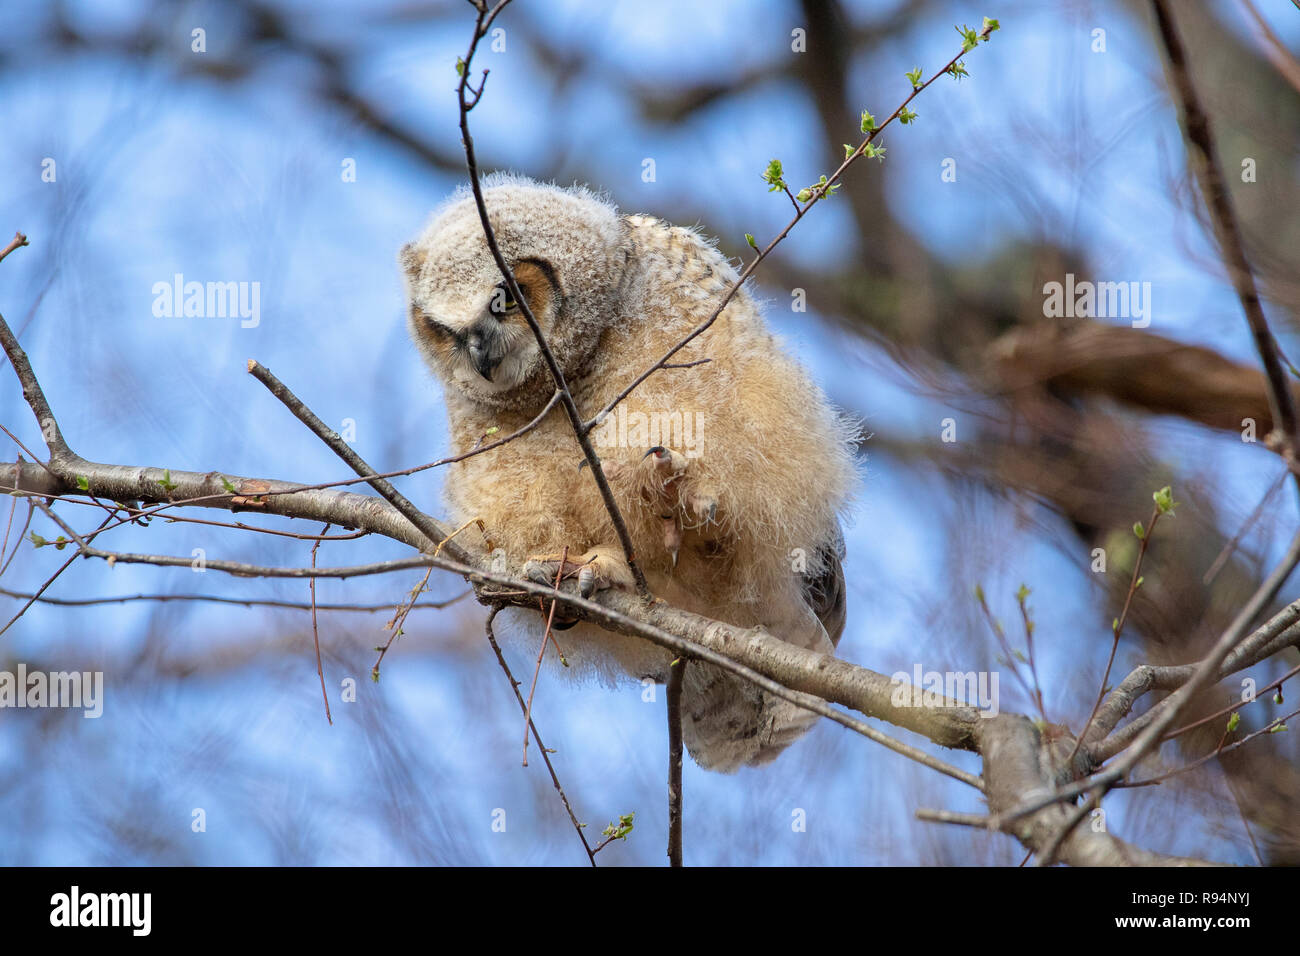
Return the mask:
<path id="1" fill-rule="evenodd" d="M 628 251 L 618 211 L 585 189 L 488 177 L 502 255 L 560 369 L 581 369 L 616 319 Z M 523 407 L 551 393 L 536 337 L 497 268 L 468 187 L 402 247 L 408 324 L 433 372 L 462 394 Z"/>

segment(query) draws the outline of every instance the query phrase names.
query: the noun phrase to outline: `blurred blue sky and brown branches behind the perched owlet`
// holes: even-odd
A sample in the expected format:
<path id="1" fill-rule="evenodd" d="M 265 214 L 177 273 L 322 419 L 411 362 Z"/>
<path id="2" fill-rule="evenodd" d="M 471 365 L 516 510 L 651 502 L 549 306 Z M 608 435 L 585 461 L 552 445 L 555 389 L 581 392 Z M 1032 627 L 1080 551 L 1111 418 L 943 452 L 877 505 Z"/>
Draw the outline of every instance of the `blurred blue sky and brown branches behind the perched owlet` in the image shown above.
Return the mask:
<path id="1" fill-rule="evenodd" d="M 1295 358 L 1300 12 L 1287 0 L 1175 8 L 1266 312 Z M 446 451 L 395 256 L 464 181 L 454 65 L 471 13 L 463 0 L 6 0 L 0 233 L 21 229 L 31 246 L 0 264 L 0 312 L 79 454 L 347 477 L 244 372 L 250 358 L 334 428 L 355 425 L 354 446 L 382 471 Z M 589 183 L 627 212 L 699 224 L 740 256 L 745 233 L 766 242 L 789 219 L 759 179 L 770 159 L 792 185 L 831 172 L 841 144 L 858 142 L 859 112 L 888 116 L 907 92 L 904 73 L 928 77 L 959 49 L 953 26 L 984 16 L 1002 29 L 966 57 L 970 78 L 918 98 L 918 121 L 885 133 L 885 161 L 853 169 L 764 264 L 759 290 L 779 334 L 870 436 L 841 656 L 885 674 L 997 670 L 1001 709 L 1036 713 L 972 597 L 982 585 L 1024 649 L 1024 584 L 1045 713 L 1078 731 L 1127 589 L 1131 527 L 1148 520 L 1153 490 L 1173 485 L 1182 506 L 1154 536 L 1115 680 L 1143 661 L 1197 657 L 1300 520 L 1280 463 L 1243 441 L 1243 418 L 1258 436 L 1269 427 L 1261 378 L 1145 4 L 517 0 L 480 52 L 491 78 L 472 127 L 486 169 Z M 792 49 L 796 30 L 806 52 Z M 260 284 L 260 323 L 156 317 L 153 285 L 176 273 Z M 1149 326 L 1045 317 L 1043 286 L 1067 273 L 1149 282 Z M 800 289 L 806 312 L 792 308 Z M 942 441 L 946 419 L 956 441 Z M 42 447 L 8 364 L 0 423 Z M 3 457 L 16 455 L 10 444 Z M 400 486 L 438 512 L 439 480 L 424 472 Z M 20 540 L 60 533 L 43 515 L 27 527 L 26 505 L 8 512 L 5 620 L 68 557 Z M 74 505 L 61 514 L 79 529 L 99 522 Z M 164 520 L 99 544 L 311 561 L 308 541 Z M 1105 572 L 1093 570 L 1097 548 Z M 403 553 L 329 541 L 317 561 Z M 0 862 L 585 865 L 536 748 L 520 766 L 521 717 L 472 598 L 412 611 L 369 679 L 385 622 L 420 578 L 318 584 L 322 605 L 377 607 L 321 611 L 330 726 L 300 607 L 75 604 L 302 605 L 306 583 L 74 562 L 0 636 L 0 669 L 101 670 L 104 715 L 0 710 Z M 463 592 L 436 572 L 421 601 Z M 506 653 L 526 680 L 534 652 Z M 1249 676 L 1262 687 L 1295 663 L 1292 652 Z M 355 702 L 339 698 L 348 678 Z M 1239 692 L 1228 682 L 1200 709 Z M 534 717 L 593 842 L 636 813 L 602 865 L 664 862 L 663 689 L 654 697 L 541 676 Z M 1260 701 L 1240 732 L 1282 713 Z M 1221 736 L 1214 722 L 1162 762 Z M 1295 736 L 1117 791 L 1108 825 L 1164 852 L 1300 862 Z M 979 770 L 972 754 L 941 756 Z M 722 777 L 688 761 L 685 806 L 688 865 L 1023 858 L 1010 838 L 916 822 L 920 806 L 983 806 L 827 722 L 766 769 Z M 204 832 L 191 827 L 195 809 Z"/>

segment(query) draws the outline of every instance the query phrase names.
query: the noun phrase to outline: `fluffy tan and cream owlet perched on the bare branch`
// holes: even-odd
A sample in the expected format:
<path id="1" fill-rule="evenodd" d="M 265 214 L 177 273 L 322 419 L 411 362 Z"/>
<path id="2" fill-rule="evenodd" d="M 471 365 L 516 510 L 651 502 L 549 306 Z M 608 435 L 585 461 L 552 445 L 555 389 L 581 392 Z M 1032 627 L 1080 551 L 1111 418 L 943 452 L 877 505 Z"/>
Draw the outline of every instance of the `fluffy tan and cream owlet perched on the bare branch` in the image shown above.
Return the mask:
<path id="1" fill-rule="evenodd" d="M 585 189 L 498 176 L 485 199 L 584 419 L 702 323 L 736 280 L 697 232 L 620 215 Z M 454 454 L 532 421 L 554 384 L 468 190 L 434 212 L 399 260 L 410 332 L 442 382 Z M 857 425 L 781 350 L 746 291 L 672 362 L 689 367 L 655 372 L 592 432 L 651 592 L 833 653 Z M 507 566 L 533 580 L 554 583 L 567 554 L 563 574 L 584 593 L 633 588 L 582 462 L 556 406 L 523 437 L 450 466 L 451 516 L 486 528 L 481 541 L 458 540 L 504 549 Z M 540 640 L 540 618 L 526 623 Z M 571 663 L 603 674 L 663 680 L 672 657 L 586 623 L 559 637 Z M 703 767 L 764 763 L 815 719 L 712 666 L 686 669 L 682 737 Z"/>

